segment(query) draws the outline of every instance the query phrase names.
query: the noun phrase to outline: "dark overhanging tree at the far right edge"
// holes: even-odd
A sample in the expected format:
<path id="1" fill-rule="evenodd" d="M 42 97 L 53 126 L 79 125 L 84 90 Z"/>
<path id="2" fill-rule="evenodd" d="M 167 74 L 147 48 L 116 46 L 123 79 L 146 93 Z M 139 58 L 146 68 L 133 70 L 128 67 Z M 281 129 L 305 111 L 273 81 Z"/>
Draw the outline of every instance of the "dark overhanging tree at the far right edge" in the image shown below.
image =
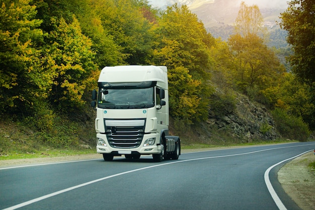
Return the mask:
<path id="1" fill-rule="evenodd" d="M 300 108 L 296 108 L 296 110 L 299 110 L 300 116 L 303 117 L 305 122 L 309 123 L 311 129 L 315 129 L 313 120 L 315 113 L 314 13 L 315 4 L 313 1 L 294 0 L 288 2 L 287 10 L 281 13 L 280 16 L 280 26 L 288 32 L 286 40 L 293 50 L 293 54 L 288 56 L 287 60 L 292 67 L 292 73 L 302 84 L 302 88 L 299 90 L 303 91 L 299 91 L 300 93 L 295 96 L 304 96 L 303 100 L 298 99 L 298 101 L 303 102 L 299 104 L 302 105 L 303 110 L 300 110 Z M 310 95 L 307 95 L 307 93 Z"/>

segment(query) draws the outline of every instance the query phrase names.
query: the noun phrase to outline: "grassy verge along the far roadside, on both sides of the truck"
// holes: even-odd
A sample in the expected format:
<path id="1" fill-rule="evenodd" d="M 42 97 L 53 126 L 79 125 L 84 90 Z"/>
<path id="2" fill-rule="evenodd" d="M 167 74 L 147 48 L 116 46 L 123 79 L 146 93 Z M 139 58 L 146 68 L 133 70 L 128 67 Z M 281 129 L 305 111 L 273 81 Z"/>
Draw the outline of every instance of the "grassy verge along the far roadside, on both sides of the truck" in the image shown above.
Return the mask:
<path id="1" fill-rule="evenodd" d="M 61 126 L 56 124 L 55 127 Z M 62 132 L 59 132 L 60 130 Z M 8 118 L 7 120 L 0 119 L 0 161 L 96 154 L 94 119 L 87 122 L 85 126 L 82 126 L 82 123 L 72 123 L 72 126 L 64 126 L 60 130 L 53 130 L 57 132 L 57 135 L 53 135 L 48 131 L 38 131 L 25 122 L 14 122 Z M 182 150 L 296 142 L 287 139 L 241 141 L 225 131 L 209 131 L 198 127 L 177 129 L 176 131 L 173 129 L 172 131 L 173 135 L 180 136 Z M 57 141 L 59 138 L 77 139 L 77 141 L 74 145 L 59 146 L 47 141 L 47 136 L 54 136 Z M 88 149 L 81 145 L 88 146 Z"/>

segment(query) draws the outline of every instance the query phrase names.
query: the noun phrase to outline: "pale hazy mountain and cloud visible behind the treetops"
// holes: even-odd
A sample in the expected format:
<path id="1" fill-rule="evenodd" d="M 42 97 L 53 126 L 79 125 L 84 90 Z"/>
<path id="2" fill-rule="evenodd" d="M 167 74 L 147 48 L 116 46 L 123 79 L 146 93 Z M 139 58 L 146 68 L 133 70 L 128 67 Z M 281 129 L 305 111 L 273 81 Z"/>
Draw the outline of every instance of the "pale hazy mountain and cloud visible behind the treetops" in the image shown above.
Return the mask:
<path id="1" fill-rule="evenodd" d="M 177 3 L 187 5 L 192 13 L 202 21 L 213 37 L 227 40 L 233 33 L 233 24 L 238 16 L 241 2 L 248 6 L 257 4 L 264 17 L 265 26 L 270 32 L 271 47 L 285 48 L 286 31 L 281 30 L 276 22 L 280 22 L 280 13 L 286 10 L 287 0 L 150 0 L 153 6 L 166 9 Z"/>

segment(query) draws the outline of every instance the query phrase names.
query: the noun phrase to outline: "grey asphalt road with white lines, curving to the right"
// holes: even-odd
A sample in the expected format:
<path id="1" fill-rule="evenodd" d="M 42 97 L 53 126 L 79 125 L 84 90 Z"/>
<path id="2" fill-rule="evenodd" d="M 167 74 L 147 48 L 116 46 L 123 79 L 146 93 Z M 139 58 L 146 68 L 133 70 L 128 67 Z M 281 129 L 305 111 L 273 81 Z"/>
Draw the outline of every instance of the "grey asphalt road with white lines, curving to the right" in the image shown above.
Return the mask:
<path id="1" fill-rule="evenodd" d="M 307 142 L 186 153 L 162 163 L 100 156 L 2 168 L 0 209 L 299 209 L 277 171 L 314 148 Z"/>

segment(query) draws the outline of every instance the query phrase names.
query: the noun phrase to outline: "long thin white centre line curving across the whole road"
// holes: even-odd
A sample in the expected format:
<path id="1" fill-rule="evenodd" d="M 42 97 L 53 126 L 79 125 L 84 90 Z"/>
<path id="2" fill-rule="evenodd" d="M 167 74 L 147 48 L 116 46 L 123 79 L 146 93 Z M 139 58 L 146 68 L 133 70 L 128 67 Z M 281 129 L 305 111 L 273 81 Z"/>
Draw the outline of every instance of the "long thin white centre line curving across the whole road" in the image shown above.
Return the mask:
<path id="1" fill-rule="evenodd" d="M 309 145 L 315 145 L 315 144 L 309 144 Z M 13 206 L 8 207 L 8 208 L 4 208 L 3 210 L 14 210 L 14 209 L 17 209 L 17 208 L 21 208 L 23 206 L 32 204 L 34 202 L 38 202 L 38 201 L 44 200 L 46 198 L 49 198 L 49 197 L 52 197 L 52 196 L 55 196 L 55 195 L 58 195 L 58 194 L 61 194 L 61 193 L 73 190 L 73 189 L 84 187 L 84 186 L 87 186 L 89 184 L 93 184 L 93 183 L 96 183 L 96 182 L 99 182 L 99 181 L 103 181 L 103 180 L 106 180 L 106 179 L 110 179 L 110 178 L 113 178 L 113 177 L 116 177 L 116 176 L 132 173 L 132 172 L 136 172 L 136 171 L 141 171 L 141 170 L 145 170 L 145 169 L 149 169 L 149 168 L 155 168 L 155 167 L 159 167 L 159 166 L 165 166 L 165 165 L 182 163 L 182 162 L 188 162 L 188 161 L 196 161 L 196 160 L 206 160 L 206 159 L 213 159 L 213 158 L 223 158 L 223 157 L 231 157 L 231 156 L 248 155 L 248 154 L 259 153 L 259 152 L 264 152 L 264 151 L 269 151 L 269 150 L 276 150 L 276 149 L 283 149 L 283 148 L 292 148 L 292 147 L 302 147 L 302 146 L 308 146 L 308 145 L 296 145 L 296 146 L 290 146 L 290 147 L 270 148 L 270 149 L 258 150 L 258 151 L 248 152 L 248 153 L 240 153 L 240 154 L 224 155 L 224 156 L 214 156 L 214 157 L 206 157 L 206 158 L 196 158 L 196 159 L 182 160 L 182 161 L 176 161 L 176 162 L 170 162 L 170 163 L 163 163 L 163 164 L 154 165 L 154 166 L 148 166 L 148 167 L 144 167 L 144 168 L 134 169 L 134 170 L 131 170 L 131 171 L 125 171 L 125 172 L 122 172 L 122 173 L 114 174 L 114 175 L 103 177 L 103 178 L 100 178 L 100 179 L 95 179 L 93 181 L 89 181 L 89 182 L 86 182 L 86 183 L 83 183 L 83 184 L 79 184 L 79 185 L 76 185 L 76 186 L 73 186 L 73 187 L 69 187 L 69 188 L 66 188 L 66 189 L 63 189 L 63 190 L 59 190 L 59 191 L 56 191 L 56 192 L 53 192 L 53 193 L 50 193 L 50 194 L 47 194 L 47 195 L 44 195 L 44 196 L 41 196 L 41 197 L 37 197 L 37 198 L 34 198 L 32 200 L 29 200 L 29 201 L 26 201 L 26 202 L 23 202 L 23 203 L 20 203 L 20 204 L 17 204 L 17 205 L 13 205 Z"/>

